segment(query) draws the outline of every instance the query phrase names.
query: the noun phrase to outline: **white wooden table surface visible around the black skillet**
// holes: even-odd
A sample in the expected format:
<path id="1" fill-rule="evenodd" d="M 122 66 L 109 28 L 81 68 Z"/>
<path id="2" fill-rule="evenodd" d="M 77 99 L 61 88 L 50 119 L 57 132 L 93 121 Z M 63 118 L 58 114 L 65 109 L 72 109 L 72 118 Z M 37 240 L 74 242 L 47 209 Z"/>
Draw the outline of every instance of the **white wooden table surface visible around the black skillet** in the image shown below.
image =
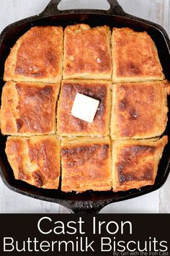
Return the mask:
<path id="1" fill-rule="evenodd" d="M 162 25 L 170 35 L 169 0 L 118 0 L 125 12 Z M 1 0 L 0 31 L 6 25 L 42 12 L 49 0 Z M 105 0 L 63 0 L 62 9 L 107 7 Z M 169 64 L 170 65 L 170 64 Z M 67 213 L 50 202 L 34 200 L 7 189 L 0 179 L 0 213 Z M 170 176 L 166 184 L 149 195 L 108 205 L 101 213 L 170 213 Z"/>

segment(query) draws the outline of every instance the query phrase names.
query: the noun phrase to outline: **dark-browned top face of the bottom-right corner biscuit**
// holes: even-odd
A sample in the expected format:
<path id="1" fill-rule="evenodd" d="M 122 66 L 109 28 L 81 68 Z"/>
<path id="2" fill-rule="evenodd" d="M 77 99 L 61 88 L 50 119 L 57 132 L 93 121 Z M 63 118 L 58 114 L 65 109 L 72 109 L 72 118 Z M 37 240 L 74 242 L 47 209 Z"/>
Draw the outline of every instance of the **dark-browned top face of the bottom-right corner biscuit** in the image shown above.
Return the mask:
<path id="1" fill-rule="evenodd" d="M 117 149 L 115 169 L 120 184 L 155 180 L 159 158 L 167 143 L 167 136 L 157 142 L 126 141 Z M 113 152 L 114 154 L 114 152 Z"/>

